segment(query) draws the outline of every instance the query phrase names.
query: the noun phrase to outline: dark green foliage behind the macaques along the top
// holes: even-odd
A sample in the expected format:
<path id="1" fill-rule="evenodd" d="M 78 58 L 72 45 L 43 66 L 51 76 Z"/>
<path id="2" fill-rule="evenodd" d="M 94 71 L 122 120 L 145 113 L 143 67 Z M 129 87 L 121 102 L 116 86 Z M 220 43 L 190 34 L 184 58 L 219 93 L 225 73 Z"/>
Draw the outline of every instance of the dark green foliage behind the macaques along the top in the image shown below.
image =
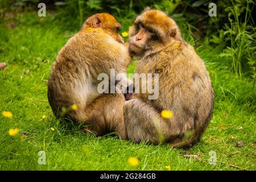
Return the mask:
<path id="1" fill-rule="evenodd" d="M 54 18 L 66 30 L 79 30 L 89 15 L 100 12 L 113 14 L 122 22 L 122 30 L 127 30 L 144 7 L 163 10 L 176 20 L 181 30 L 185 30 L 182 33 L 189 43 L 199 45 L 204 40 L 213 47 L 222 46 L 224 50 L 220 56 L 230 58 L 230 69 L 238 76 L 252 76 L 255 80 L 256 33 L 253 0 L 3 0 L 0 3 L 1 13 L 5 9 L 36 9 L 35 5 L 39 2 L 45 2 L 49 10 L 57 10 Z M 217 3 L 216 17 L 208 15 L 210 2 Z"/>

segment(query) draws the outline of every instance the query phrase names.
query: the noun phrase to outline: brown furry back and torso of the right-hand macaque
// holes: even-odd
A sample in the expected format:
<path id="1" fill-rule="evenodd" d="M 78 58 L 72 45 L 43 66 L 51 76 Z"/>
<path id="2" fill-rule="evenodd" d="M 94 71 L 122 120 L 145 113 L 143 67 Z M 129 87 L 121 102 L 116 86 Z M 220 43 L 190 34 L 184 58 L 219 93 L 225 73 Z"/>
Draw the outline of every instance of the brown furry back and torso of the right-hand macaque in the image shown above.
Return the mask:
<path id="1" fill-rule="evenodd" d="M 139 60 L 135 72 L 159 73 L 159 97 L 156 100 L 147 100 L 147 94 L 135 97 L 150 102 L 159 112 L 173 112 L 168 119 L 169 127 L 176 127 L 181 135 L 175 137 L 175 133 L 170 133 L 167 142 L 175 146 L 188 132 L 191 137 L 184 146 L 199 140 L 212 117 L 214 93 L 209 73 L 194 48 L 178 42 Z"/>

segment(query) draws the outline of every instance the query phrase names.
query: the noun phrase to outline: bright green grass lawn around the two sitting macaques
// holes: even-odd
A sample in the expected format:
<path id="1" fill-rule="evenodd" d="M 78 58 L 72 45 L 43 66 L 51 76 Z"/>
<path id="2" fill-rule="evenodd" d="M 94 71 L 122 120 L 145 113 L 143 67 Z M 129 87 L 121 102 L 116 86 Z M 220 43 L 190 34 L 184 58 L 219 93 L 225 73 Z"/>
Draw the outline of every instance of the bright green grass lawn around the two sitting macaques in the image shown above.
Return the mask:
<path id="1" fill-rule="evenodd" d="M 249 78 L 233 75 L 228 60 L 218 56 L 221 48 L 196 47 L 210 73 L 215 100 L 212 121 L 192 148 L 135 144 L 109 135 L 94 137 L 79 126 L 57 121 L 47 102 L 47 79 L 57 51 L 77 31 L 66 31 L 62 23 L 54 14 L 40 19 L 36 12 L 6 16 L 0 22 L 0 62 L 8 64 L 0 71 L 0 112 L 13 113 L 11 119 L 0 115 L 1 170 L 256 169 L 255 89 Z M 133 69 L 134 64 L 128 70 Z M 16 127 L 19 134 L 11 137 L 8 131 Z M 20 139 L 22 132 L 29 134 L 24 140 Z M 236 147 L 237 141 L 244 146 Z M 38 164 L 42 150 L 46 151 L 46 165 Z M 216 151 L 216 165 L 209 164 L 209 151 Z M 200 160 L 183 157 L 199 152 Z M 130 156 L 139 159 L 137 167 L 127 164 Z"/>

